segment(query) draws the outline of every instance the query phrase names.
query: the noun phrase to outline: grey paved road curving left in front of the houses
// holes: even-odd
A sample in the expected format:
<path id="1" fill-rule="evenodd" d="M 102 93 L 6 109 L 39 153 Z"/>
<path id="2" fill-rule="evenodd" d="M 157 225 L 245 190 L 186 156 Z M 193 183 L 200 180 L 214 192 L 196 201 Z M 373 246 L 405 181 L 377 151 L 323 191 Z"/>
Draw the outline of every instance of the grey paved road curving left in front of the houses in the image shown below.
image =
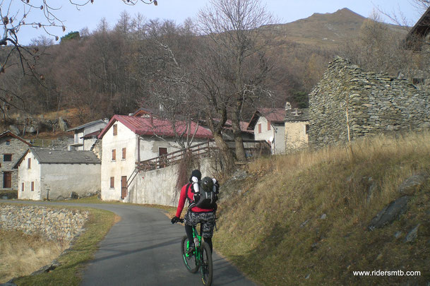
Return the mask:
<path id="1" fill-rule="evenodd" d="M 102 208 L 121 217 L 100 242 L 81 286 L 203 285 L 199 273 L 189 273 L 181 260 L 184 227 L 172 225 L 162 210 L 126 204 L 60 204 Z M 256 285 L 215 252 L 213 261 L 213 285 Z"/>

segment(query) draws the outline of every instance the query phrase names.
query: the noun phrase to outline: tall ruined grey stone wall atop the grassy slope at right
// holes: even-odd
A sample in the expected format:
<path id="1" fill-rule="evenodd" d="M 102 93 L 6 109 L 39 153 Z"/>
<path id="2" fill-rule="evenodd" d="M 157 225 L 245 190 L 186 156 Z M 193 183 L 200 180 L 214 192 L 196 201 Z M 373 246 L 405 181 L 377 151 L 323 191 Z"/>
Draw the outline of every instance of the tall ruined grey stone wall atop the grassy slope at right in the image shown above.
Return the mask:
<path id="1" fill-rule="evenodd" d="M 430 127 L 429 93 L 402 78 L 365 72 L 336 57 L 309 94 L 309 144 Z"/>

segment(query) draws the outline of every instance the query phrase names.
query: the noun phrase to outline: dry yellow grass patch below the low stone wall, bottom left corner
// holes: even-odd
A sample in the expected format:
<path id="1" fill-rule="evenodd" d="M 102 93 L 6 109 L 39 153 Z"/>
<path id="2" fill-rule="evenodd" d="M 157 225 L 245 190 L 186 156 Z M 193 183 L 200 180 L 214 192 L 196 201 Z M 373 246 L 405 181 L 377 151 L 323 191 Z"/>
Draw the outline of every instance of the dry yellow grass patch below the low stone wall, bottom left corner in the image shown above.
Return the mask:
<path id="1" fill-rule="evenodd" d="M 0 283 L 29 275 L 47 265 L 66 249 L 37 235 L 0 230 Z"/>

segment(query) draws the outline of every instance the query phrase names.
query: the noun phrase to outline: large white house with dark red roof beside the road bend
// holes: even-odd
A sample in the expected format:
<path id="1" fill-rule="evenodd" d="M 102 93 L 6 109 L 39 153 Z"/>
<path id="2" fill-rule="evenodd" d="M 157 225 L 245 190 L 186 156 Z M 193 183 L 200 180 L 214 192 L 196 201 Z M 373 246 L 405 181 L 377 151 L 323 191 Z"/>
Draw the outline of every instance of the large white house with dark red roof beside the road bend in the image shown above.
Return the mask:
<path id="1" fill-rule="evenodd" d="M 129 186 L 139 176 L 136 164 L 181 149 L 172 122 L 155 117 L 114 115 L 102 130 L 101 194 L 104 201 L 127 201 Z M 177 122 L 176 133 L 187 124 Z M 205 142 L 212 133 L 191 122 L 193 143 Z M 197 129 L 197 130 L 196 130 Z"/>

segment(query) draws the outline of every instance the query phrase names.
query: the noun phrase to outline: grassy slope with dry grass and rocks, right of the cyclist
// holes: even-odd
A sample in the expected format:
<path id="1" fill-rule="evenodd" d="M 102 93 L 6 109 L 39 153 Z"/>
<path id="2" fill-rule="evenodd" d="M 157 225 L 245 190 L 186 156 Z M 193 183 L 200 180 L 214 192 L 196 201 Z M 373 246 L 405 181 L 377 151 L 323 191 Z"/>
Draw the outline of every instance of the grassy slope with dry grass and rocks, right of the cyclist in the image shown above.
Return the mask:
<path id="1" fill-rule="evenodd" d="M 429 133 L 365 138 L 251 163 L 244 178 L 222 186 L 215 247 L 263 285 L 427 285 L 428 179 L 407 193 L 396 220 L 369 225 L 405 196 L 398 191 L 405 179 L 428 178 L 429 139 Z M 354 276 L 356 270 L 421 275 Z"/>

